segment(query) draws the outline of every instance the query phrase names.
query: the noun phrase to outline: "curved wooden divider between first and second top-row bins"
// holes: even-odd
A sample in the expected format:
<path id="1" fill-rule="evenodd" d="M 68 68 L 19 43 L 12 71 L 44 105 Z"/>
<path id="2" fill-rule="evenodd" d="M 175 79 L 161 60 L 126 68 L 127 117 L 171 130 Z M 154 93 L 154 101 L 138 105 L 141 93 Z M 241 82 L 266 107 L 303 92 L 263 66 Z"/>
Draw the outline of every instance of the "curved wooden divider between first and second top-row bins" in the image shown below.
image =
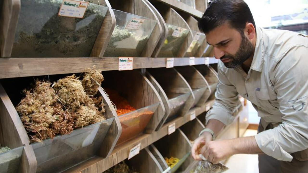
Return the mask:
<path id="1" fill-rule="evenodd" d="M 114 28 L 115 14 L 113 13 L 113 10 L 111 8 L 108 8 L 101 29 L 99 30 L 99 33 L 93 45 L 90 57 L 103 57 L 103 54 L 107 48 Z"/>

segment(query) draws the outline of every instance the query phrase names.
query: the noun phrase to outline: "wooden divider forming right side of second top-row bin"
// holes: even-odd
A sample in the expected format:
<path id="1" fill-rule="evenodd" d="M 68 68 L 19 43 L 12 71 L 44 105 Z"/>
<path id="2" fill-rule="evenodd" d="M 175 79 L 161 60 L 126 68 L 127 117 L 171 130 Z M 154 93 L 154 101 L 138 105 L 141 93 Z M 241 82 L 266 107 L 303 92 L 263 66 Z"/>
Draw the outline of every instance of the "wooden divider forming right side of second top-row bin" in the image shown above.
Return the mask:
<path id="1" fill-rule="evenodd" d="M 110 4 L 113 9 L 158 21 L 140 55 L 140 57 L 151 57 L 158 41 L 163 36 L 163 28 L 152 8 L 144 0 L 111 0 Z"/>

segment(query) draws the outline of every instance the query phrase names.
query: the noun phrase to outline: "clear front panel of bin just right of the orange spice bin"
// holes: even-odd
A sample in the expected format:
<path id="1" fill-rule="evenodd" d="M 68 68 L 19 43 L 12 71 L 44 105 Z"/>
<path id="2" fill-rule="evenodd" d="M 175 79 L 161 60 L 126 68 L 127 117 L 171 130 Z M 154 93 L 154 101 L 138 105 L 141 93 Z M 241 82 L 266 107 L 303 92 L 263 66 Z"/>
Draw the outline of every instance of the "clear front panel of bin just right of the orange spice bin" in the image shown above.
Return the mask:
<path id="1" fill-rule="evenodd" d="M 178 111 L 180 111 L 181 108 L 183 108 L 182 106 L 184 105 L 184 103 L 186 102 L 190 94 L 191 93 L 189 92 L 187 94 L 183 94 L 183 95 L 180 95 L 178 97 L 168 100 L 170 104 L 170 114 L 168 118 L 173 117 L 174 115 L 178 113 Z"/>

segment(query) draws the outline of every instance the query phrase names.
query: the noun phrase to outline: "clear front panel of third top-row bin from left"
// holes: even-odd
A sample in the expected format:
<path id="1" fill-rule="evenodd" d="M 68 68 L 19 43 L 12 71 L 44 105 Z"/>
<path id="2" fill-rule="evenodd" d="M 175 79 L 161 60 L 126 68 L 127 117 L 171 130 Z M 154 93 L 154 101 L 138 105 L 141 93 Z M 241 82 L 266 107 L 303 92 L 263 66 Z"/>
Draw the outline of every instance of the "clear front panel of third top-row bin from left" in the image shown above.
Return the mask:
<path id="1" fill-rule="evenodd" d="M 177 57 L 189 30 L 168 23 L 166 25 L 168 27 L 168 36 L 160 49 L 158 57 Z"/>

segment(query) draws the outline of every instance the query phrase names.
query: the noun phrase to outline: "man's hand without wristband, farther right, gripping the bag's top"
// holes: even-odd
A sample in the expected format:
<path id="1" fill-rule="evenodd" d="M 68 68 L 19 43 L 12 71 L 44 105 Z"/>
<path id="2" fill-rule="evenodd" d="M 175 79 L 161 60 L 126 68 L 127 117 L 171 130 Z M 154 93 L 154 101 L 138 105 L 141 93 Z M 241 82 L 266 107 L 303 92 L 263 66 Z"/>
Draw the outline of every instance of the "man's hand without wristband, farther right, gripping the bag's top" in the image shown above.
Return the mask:
<path id="1" fill-rule="evenodd" d="M 201 154 L 210 162 L 217 164 L 219 161 L 227 159 L 234 154 L 228 140 L 210 141 L 201 148 Z"/>

